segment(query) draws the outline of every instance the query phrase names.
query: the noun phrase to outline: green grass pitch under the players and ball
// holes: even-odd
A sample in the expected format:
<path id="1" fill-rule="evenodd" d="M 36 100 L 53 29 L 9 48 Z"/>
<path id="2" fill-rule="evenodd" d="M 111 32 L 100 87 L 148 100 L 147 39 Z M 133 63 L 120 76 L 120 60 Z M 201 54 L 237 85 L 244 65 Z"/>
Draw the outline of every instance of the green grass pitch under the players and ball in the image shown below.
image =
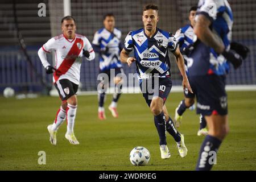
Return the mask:
<path id="1" fill-rule="evenodd" d="M 171 93 L 166 104 L 171 116 L 183 98 Z M 60 105 L 57 97 L 15 100 L 0 97 L 0 170 L 194 170 L 204 137 L 197 137 L 199 115 L 187 110 L 181 127 L 188 155 L 180 158 L 174 139 L 167 134 L 170 159 L 160 159 L 159 139 L 152 114 L 142 94 L 123 94 L 119 118 L 105 104 L 106 121 L 97 118 L 97 96 L 78 96 L 75 134 L 79 146 L 64 138 L 66 125 L 57 133 L 57 146 L 49 143 L 47 125 Z M 256 170 L 256 92 L 229 92 L 230 133 L 222 143 L 213 170 Z M 134 167 L 129 154 L 135 146 L 151 154 L 148 166 Z M 46 152 L 46 165 L 38 152 Z"/>

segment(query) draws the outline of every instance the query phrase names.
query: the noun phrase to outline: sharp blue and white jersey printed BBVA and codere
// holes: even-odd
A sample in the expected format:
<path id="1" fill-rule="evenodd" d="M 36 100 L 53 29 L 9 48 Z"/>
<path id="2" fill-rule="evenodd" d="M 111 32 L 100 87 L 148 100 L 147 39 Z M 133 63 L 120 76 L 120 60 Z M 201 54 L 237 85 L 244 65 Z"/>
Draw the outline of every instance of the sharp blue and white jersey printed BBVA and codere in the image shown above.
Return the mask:
<path id="1" fill-rule="evenodd" d="M 174 35 L 159 28 L 151 38 L 146 35 L 144 28 L 129 32 L 124 47 L 127 52 L 134 49 L 139 80 L 170 76 L 168 49 L 175 51 L 176 48 Z"/>

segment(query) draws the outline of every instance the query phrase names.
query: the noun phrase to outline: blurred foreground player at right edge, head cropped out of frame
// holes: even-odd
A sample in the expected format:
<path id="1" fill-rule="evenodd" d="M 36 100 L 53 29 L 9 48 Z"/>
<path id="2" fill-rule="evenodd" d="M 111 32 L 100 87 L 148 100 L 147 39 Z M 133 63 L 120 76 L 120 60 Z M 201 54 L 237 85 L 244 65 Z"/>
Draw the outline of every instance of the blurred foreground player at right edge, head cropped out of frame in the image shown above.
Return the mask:
<path id="1" fill-rule="evenodd" d="M 210 170 L 214 164 L 212 156 L 229 132 L 225 91 L 228 62 L 238 68 L 243 59 L 230 49 L 233 14 L 228 1 L 201 0 L 198 7 L 194 27 L 198 39 L 190 55 L 188 73 L 192 88 L 196 89 L 197 113 L 205 116 L 209 128 L 196 170 Z"/>

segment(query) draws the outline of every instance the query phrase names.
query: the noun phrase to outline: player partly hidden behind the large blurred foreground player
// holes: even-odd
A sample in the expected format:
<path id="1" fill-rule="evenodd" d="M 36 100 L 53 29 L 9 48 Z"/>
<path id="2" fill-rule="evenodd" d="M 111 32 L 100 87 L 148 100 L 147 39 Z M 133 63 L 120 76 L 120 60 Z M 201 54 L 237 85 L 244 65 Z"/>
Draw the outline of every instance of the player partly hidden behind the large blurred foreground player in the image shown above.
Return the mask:
<path id="1" fill-rule="evenodd" d="M 190 24 L 187 24 L 186 26 L 180 28 L 179 30 L 176 31 L 176 34 L 175 34 L 177 43 L 179 43 L 180 52 L 184 56 L 186 71 L 188 71 L 187 64 L 189 61 L 189 55 L 192 51 L 191 48 L 193 48 L 192 47 L 194 43 L 193 41 L 196 40 L 196 35 L 193 30 L 193 27 L 195 26 L 195 23 L 196 23 L 195 22 L 196 10 L 197 10 L 197 6 L 192 6 L 191 9 L 189 9 L 188 18 L 189 18 Z M 187 75 L 189 80 L 188 72 L 187 72 Z M 185 89 L 184 90 L 185 99 L 182 100 L 179 106 L 177 106 L 177 108 L 175 109 L 175 117 L 174 117 L 175 127 L 180 126 L 183 113 L 187 108 L 193 107 L 193 104 L 195 103 L 195 89 L 193 89 L 193 87 L 191 88 L 194 91 L 194 93 L 190 93 L 188 92 L 187 89 Z M 197 132 L 198 136 L 208 134 L 208 130 L 206 126 L 207 126 L 207 123 L 205 121 L 205 118 L 203 117 L 203 115 L 200 115 L 200 129 Z"/>

